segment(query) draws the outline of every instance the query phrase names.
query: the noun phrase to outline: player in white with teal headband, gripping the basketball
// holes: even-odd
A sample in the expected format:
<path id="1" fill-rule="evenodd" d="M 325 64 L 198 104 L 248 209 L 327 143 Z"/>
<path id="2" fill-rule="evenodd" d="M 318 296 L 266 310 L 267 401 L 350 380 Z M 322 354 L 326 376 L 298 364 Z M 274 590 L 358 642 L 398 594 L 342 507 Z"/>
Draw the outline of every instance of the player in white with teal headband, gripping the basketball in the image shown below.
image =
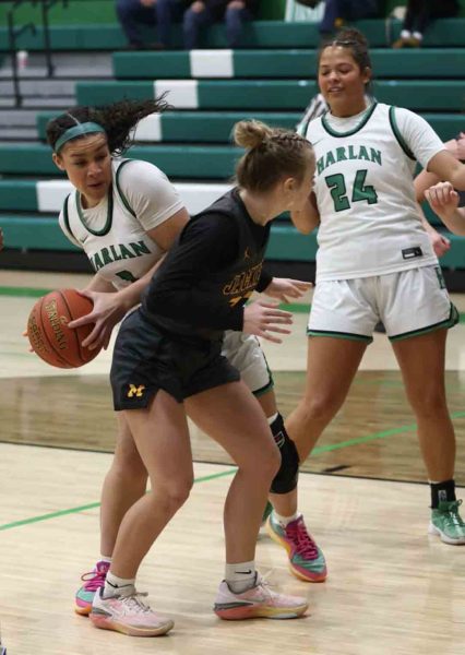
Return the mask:
<path id="1" fill-rule="evenodd" d="M 97 321 L 84 344 L 108 345 L 112 326 L 139 302 L 154 269 L 189 219 L 176 189 L 156 166 L 111 156 L 128 147 L 131 130 L 143 116 L 164 108 L 162 100 L 124 100 L 99 110 L 76 108 L 48 124 L 47 140 L 53 148 L 53 160 L 75 188 L 64 202 L 59 223 L 67 237 L 85 251 L 96 272 L 86 288 L 95 302 L 94 311 L 84 321 L 73 323 Z M 279 300 L 297 298 L 309 286 L 271 276 L 267 283 L 267 295 Z M 107 293 L 115 289 L 120 290 Z M 272 486 L 271 498 L 279 512 L 282 496 L 297 485 L 298 457 L 276 407 L 264 354 L 257 337 L 240 332 L 226 334 L 224 354 L 258 397 L 283 462 L 287 463 Z M 79 614 L 90 612 L 95 592 L 105 583 L 122 516 L 144 495 L 146 481 L 147 472 L 132 434 L 119 417 L 115 458 L 102 493 L 102 556 L 76 594 Z M 303 580 L 323 581 L 323 553 L 302 521 L 300 524 L 295 572 Z"/>

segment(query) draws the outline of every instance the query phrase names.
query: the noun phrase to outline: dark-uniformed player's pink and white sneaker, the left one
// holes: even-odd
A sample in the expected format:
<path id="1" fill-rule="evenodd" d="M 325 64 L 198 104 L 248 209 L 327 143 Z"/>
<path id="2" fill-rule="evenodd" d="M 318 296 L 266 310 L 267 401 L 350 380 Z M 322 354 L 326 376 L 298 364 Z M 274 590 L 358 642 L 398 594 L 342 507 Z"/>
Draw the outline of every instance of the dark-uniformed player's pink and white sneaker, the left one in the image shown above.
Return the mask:
<path id="1" fill-rule="evenodd" d="M 141 594 L 134 587 L 130 587 L 127 595 L 103 597 L 103 588 L 95 594 L 92 603 L 92 611 L 88 615 L 91 621 L 103 630 L 115 630 L 130 636 L 158 636 L 166 634 L 174 627 L 171 619 L 155 614 L 146 603 L 142 600 Z"/>

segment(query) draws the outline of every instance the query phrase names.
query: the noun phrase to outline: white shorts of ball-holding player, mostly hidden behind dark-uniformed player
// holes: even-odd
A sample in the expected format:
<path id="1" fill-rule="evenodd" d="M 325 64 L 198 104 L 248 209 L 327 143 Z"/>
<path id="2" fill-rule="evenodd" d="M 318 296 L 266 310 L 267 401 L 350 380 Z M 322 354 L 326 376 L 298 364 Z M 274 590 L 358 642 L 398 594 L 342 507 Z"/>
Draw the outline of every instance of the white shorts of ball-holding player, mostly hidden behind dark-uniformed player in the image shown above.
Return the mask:
<path id="1" fill-rule="evenodd" d="M 259 340 L 243 332 L 225 332 L 224 355 L 238 369 L 250 391 L 262 395 L 273 389 L 273 378 Z"/>

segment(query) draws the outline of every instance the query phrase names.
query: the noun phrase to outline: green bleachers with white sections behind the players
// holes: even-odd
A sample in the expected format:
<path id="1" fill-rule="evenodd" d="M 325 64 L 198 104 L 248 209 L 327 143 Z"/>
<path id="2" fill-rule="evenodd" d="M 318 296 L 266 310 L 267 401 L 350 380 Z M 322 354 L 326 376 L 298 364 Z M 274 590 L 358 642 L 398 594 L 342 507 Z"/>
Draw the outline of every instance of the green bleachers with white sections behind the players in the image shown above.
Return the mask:
<path id="1" fill-rule="evenodd" d="M 293 128 L 309 99 L 317 93 L 314 72 L 317 25 L 261 20 L 248 25 L 243 49 L 213 53 L 212 61 L 225 64 L 218 72 L 208 69 L 207 57 L 179 51 L 128 52 L 120 27 L 109 19 L 108 0 L 79 0 L 98 20 L 79 24 L 76 15 L 67 24 L 52 21 L 51 46 L 55 50 L 116 50 L 112 55 L 114 80 L 83 81 L 75 84 L 76 103 L 99 105 L 122 97 L 154 97 L 171 85 L 174 110 L 159 118 L 157 131 L 145 133 L 129 156 L 152 162 L 176 182 L 196 182 L 206 190 L 213 182 L 227 182 L 241 154 L 230 144 L 234 123 L 258 118 L 275 126 Z M 74 7 L 74 3 L 70 3 Z M 105 7 L 104 7 L 105 5 Z M 271 5 L 270 5 L 271 7 Z M 277 11 L 277 2 L 274 11 Z M 104 11 L 105 10 L 105 11 Z M 0 4 L 0 24 L 2 14 Z M 74 10 L 73 10 L 74 11 Z M 103 13 L 102 13 L 103 12 Z M 107 12 L 107 13 L 105 13 Z M 105 17 L 106 16 L 106 17 Z M 273 17 L 273 15 L 264 16 Z M 105 19 L 102 20 L 100 19 Z M 110 22 L 108 22 L 110 21 Z M 83 21 L 84 23 L 84 21 Z M 437 21 L 428 32 L 425 47 L 394 51 L 398 21 L 361 21 L 358 26 L 368 36 L 374 69 L 374 94 L 380 102 L 408 107 L 430 122 L 443 140 L 465 129 L 465 19 Z M 174 43 L 181 45 L 179 26 Z M 224 48 L 222 25 L 208 31 L 204 46 Z M 24 33 L 19 48 L 43 49 L 40 29 Z M 0 27 L 0 56 L 8 50 L 5 28 Z M 206 68 L 205 68 L 206 67 Z M 203 71 L 199 74 L 199 70 Z M 90 71 L 91 76 L 91 71 Z M 40 180 L 63 179 L 51 162 L 44 143 L 45 127 L 56 112 L 37 115 L 37 143 L 0 143 L 0 225 L 10 248 L 74 251 L 57 226 L 59 205 L 51 210 L 38 201 Z M 430 216 L 437 223 L 436 217 Z M 453 247 L 443 258 L 444 266 L 465 269 L 465 239 L 448 235 Z M 273 225 L 267 257 L 281 261 L 314 260 L 315 236 L 302 237 L 286 221 Z"/>

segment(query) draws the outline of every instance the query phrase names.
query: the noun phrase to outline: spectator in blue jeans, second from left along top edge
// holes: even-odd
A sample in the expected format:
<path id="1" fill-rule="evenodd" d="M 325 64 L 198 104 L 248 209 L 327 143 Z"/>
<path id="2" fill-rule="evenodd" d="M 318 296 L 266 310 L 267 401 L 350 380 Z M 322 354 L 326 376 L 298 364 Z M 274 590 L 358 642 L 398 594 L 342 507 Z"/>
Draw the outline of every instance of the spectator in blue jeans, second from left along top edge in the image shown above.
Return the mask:
<path id="1" fill-rule="evenodd" d="M 258 12 L 259 0 L 194 0 L 184 12 L 184 48 L 199 48 L 200 35 L 213 23 L 224 21 L 229 48 L 239 46 L 243 23 Z"/>

